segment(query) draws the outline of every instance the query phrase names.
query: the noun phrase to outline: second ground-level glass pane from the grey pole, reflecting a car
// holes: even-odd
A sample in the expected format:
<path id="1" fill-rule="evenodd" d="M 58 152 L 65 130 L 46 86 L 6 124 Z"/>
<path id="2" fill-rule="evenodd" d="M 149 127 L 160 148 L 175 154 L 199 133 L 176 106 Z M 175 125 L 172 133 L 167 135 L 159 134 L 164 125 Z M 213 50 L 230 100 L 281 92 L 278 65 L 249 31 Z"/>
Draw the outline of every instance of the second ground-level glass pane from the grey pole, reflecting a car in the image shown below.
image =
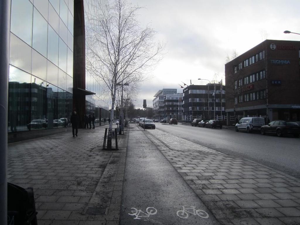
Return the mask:
<path id="1" fill-rule="evenodd" d="M 46 129 L 46 99 L 47 82 L 32 76 L 31 77 L 31 130 Z M 36 121 L 34 121 L 36 120 Z M 45 121 L 43 121 L 45 120 Z M 45 123 L 46 122 L 46 123 Z"/>

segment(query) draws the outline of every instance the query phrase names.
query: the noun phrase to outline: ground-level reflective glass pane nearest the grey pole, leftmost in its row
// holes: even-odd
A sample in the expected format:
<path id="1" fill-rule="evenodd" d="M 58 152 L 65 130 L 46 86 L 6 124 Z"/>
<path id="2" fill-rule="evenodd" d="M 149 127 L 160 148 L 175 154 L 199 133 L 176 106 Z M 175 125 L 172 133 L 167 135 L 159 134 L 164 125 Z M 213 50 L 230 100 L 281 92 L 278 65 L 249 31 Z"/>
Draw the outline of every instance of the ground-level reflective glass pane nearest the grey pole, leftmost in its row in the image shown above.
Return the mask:
<path id="1" fill-rule="evenodd" d="M 30 126 L 31 75 L 9 66 L 8 132 L 26 131 Z"/>

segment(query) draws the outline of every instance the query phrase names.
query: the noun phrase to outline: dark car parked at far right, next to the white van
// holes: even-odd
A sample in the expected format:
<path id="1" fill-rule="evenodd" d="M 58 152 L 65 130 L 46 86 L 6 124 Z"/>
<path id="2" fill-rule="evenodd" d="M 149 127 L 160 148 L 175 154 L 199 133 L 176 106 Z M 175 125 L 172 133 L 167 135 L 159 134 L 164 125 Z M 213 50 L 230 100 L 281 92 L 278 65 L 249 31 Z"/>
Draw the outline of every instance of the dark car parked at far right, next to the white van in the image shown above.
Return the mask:
<path id="1" fill-rule="evenodd" d="M 297 138 L 300 135 L 300 125 L 296 121 L 274 120 L 262 126 L 260 133 L 262 135 L 266 133 L 276 134 L 278 137 L 282 135 L 294 135 Z"/>

